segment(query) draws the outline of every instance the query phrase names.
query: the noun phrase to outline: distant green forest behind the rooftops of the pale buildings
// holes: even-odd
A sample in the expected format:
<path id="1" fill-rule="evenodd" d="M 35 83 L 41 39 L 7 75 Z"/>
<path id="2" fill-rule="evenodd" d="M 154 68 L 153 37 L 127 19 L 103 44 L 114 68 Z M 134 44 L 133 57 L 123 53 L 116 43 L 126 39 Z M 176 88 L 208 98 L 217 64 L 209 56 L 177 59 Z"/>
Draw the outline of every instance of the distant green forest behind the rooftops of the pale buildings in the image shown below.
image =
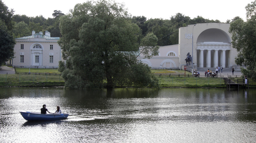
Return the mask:
<path id="1" fill-rule="evenodd" d="M 29 36 L 32 34 L 33 30 L 36 31 L 36 33 L 40 31 L 44 33 L 47 30 L 51 33 L 51 37 L 61 37 L 59 30 L 59 18 L 62 15 L 64 14 L 60 10 L 54 10 L 54 18 L 47 19 L 42 15 L 36 17 L 28 17 L 26 15 L 19 14 L 13 15 L 13 37 L 20 38 Z M 158 38 L 159 46 L 178 44 L 178 29 L 180 27 L 185 27 L 197 23 L 221 23 L 219 20 L 209 20 L 202 18 L 202 16 L 197 16 L 196 18 L 191 19 L 190 17 L 181 13 L 177 13 L 176 15 L 171 16 L 170 20 L 162 18 L 147 19 L 144 16 L 133 16 L 131 21 L 136 23 L 141 28 L 141 38 L 149 32 L 154 33 Z M 226 23 L 230 23 L 230 20 L 227 20 Z"/>

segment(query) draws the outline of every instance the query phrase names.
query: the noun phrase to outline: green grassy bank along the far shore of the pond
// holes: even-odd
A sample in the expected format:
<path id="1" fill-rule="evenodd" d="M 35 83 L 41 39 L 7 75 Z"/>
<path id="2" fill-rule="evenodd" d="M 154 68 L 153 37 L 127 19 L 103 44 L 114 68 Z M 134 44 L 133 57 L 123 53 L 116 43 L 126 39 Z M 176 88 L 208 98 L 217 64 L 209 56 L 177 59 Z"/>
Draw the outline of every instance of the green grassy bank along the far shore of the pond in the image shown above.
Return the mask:
<path id="1" fill-rule="evenodd" d="M 28 68 L 16 68 L 16 72 L 29 72 Z M 50 87 L 64 86 L 64 79 L 57 69 L 32 69 L 31 73 L 57 73 L 51 74 L 0 74 L 0 86 L 33 86 Z M 175 77 L 175 74 L 184 75 L 184 70 L 152 70 L 152 73 L 168 74 L 170 76 L 156 76 L 160 87 L 210 87 L 225 88 L 224 80 L 220 77 Z M 186 72 L 186 75 L 189 74 Z M 190 73 L 191 74 L 191 73 Z M 256 88 L 256 82 L 248 79 L 250 88 Z M 240 86 L 242 88 L 242 86 Z"/>

